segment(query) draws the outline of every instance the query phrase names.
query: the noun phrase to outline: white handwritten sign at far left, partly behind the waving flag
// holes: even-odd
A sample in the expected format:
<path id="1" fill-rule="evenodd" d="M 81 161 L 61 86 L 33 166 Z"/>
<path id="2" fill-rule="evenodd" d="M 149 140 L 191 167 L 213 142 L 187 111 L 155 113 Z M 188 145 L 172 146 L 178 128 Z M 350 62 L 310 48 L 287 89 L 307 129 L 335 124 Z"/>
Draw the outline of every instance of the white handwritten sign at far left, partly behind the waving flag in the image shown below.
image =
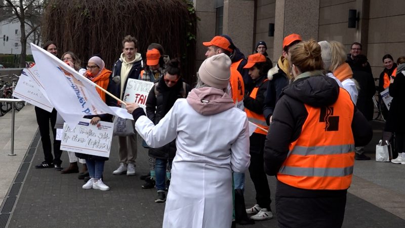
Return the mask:
<path id="1" fill-rule="evenodd" d="M 13 97 L 51 112 L 54 106 L 40 88 L 41 86 L 33 78 L 32 71 L 24 69 L 13 91 Z"/>

